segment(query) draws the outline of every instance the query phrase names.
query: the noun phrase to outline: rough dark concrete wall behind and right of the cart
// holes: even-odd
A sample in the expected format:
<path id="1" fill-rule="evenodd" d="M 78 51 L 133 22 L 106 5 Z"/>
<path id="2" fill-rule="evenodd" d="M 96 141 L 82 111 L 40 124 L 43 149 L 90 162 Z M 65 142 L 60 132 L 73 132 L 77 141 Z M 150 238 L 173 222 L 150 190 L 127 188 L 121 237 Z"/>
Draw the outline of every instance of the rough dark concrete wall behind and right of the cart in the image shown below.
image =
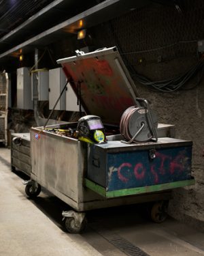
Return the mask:
<path id="1" fill-rule="evenodd" d="M 152 3 L 88 31 L 89 44 L 118 46 L 135 72 L 152 81 L 170 79 L 197 63 L 197 40 L 204 39 L 204 1 L 182 1 L 174 6 Z M 155 50 L 157 49 L 157 50 Z M 133 74 L 132 74 L 133 76 Z M 194 87 L 199 73 L 187 87 Z M 134 76 L 133 76 L 134 79 Z M 169 214 L 203 227 L 204 221 L 204 79 L 190 90 L 173 93 L 152 91 L 135 80 L 139 94 L 152 102 L 159 122 L 175 124 L 176 137 L 193 141 L 192 175 L 196 184 L 173 191 Z"/>

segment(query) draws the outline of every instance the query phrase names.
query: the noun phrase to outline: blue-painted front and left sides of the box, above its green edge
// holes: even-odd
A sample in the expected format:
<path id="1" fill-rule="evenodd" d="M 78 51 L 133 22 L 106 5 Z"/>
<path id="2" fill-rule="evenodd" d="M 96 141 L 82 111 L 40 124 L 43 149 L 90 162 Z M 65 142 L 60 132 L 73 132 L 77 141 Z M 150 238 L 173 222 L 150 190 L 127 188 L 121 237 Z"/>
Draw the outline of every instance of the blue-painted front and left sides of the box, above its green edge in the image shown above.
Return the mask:
<path id="1" fill-rule="evenodd" d="M 191 177 L 192 147 L 169 147 L 156 150 L 150 160 L 149 150 L 107 153 L 92 146 L 88 155 L 88 179 L 107 191 L 165 184 Z"/>

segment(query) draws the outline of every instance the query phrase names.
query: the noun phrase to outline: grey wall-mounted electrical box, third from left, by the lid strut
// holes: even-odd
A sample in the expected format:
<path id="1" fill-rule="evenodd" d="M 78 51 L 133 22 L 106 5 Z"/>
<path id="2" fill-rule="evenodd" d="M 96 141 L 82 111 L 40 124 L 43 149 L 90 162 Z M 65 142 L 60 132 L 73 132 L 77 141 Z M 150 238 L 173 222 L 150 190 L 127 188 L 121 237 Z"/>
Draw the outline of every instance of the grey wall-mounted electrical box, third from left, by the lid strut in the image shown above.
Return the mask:
<path id="1" fill-rule="evenodd" d="M 56 100 L 63 91 L 67 79 L 62 68 L 49 70 L 49 109 L 53 109 Z M 66 110 L 66 91 L 56 104 L 55 110 Z"/>

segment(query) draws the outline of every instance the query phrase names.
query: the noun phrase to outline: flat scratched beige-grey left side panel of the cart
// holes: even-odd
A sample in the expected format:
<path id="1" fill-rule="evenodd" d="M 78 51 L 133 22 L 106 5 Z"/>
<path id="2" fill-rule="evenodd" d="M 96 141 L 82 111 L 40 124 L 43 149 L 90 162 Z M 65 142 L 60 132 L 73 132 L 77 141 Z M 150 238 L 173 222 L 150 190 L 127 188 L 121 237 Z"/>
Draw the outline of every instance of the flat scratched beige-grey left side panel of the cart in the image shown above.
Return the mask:
<path id="1" fill-rule="evenodd" d="M 31 177 L 77 201 L 78 141 L 50 135 L 31 130 Z"/>

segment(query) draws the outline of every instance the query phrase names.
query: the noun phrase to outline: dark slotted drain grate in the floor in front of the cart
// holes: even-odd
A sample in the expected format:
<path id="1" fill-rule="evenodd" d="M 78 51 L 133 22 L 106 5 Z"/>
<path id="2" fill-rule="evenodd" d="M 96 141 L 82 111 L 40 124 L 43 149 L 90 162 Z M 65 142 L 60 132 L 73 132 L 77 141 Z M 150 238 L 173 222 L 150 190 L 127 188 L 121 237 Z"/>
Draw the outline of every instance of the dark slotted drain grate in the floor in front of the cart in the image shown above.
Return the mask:
<path id="1" fill-rule="evenodd" d="M 111 231 L 108 231 L 104 228 L 95 228 L 92 227 L 99 235 L 103 236 L 105 240 L 116 246 L 120 251 L 125 253 L 126 255 L 130 256 L 150 256 L 144 251 L 141 250 L 141 248 L 135 246 L 134 244 L 131 244 L 131 242 L 125 240 L 124 238 L 121 238 L 120 236 L 113 234 Z"/>

